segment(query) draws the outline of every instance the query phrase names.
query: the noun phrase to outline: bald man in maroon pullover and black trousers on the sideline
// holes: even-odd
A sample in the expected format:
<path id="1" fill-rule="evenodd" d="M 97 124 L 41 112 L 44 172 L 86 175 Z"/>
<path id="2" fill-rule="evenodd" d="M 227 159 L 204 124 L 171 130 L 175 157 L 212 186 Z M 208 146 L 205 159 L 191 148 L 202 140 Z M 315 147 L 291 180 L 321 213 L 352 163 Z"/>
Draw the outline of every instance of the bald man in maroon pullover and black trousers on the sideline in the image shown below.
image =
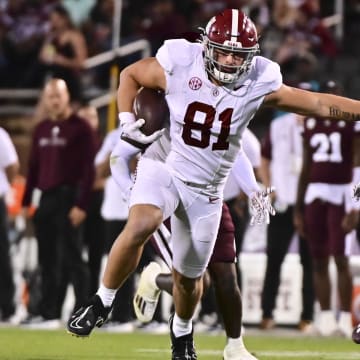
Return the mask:
<path id="1" fill-rule="evenodd" d="M 86 218 L 94 181 L 95 142 L 88 124 L 72 113 L 64 80 L 48 81 L 43 100 L 47 116 L 34 129 L 23 199 L 26 209 L 34 189 L 41 191 L 34 215 L 41 304 L 40 316 L 30 314 L 25 323 L 31 327 L 56 328 L 61 316 L 64 278 L 74 286 L 76 304 L 89 294 L 80 224 Z"/>

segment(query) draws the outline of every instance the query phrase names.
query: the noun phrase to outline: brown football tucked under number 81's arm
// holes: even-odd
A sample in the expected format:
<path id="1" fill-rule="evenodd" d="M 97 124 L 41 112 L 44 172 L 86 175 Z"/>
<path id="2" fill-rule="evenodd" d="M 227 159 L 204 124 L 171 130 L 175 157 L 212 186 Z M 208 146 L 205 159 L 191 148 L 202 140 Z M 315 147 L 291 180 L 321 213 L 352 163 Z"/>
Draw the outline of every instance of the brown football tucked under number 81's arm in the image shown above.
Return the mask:
<path id="1" fill-rule="evenodd" d="M 169 108 L 164 92 L 141 88 L 134 100 L 134 113 L 137 119 L 145 120 L 140 128 L 145 135 L 164 128 L 169 122 Z"/>

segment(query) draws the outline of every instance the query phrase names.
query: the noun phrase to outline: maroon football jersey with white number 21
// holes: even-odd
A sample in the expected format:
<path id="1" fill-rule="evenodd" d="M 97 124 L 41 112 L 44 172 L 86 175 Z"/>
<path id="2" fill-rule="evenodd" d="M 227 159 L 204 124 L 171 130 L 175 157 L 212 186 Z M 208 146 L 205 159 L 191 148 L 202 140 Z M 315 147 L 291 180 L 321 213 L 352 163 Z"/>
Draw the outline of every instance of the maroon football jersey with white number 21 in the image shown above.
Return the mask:
<path id="1" fill-rule="evenodd" d="M 359 126 L 348 121 L 307 118 L 304 141 L 309 146 L 309 182 L 347 184 L 352 180 L 353 140 Z"/>

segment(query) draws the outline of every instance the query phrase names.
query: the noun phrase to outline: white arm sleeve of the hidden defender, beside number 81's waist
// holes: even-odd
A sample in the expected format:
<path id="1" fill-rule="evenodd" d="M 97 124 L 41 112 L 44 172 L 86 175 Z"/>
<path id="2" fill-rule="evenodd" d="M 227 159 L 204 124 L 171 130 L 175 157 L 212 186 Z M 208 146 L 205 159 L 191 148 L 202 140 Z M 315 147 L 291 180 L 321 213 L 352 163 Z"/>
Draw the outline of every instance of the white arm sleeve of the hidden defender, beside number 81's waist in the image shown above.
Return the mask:
<path id="1" fill-rule="evenodd" d="M 242 150 L 234 163 L 233 173 L 239 186 L 247 196 L 250 196 L 254 191 L 260 191 L 250 160 Z"/>

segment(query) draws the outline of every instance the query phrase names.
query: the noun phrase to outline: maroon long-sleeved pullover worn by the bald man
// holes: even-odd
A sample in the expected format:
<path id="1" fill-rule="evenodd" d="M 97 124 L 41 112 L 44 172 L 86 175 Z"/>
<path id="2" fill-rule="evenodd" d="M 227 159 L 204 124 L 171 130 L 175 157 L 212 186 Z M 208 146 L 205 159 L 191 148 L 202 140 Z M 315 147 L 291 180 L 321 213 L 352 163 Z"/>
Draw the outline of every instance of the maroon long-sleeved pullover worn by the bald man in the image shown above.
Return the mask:
<path id="1" fill-rule="evenodd" d="M 95 153 L 94 133 L 79 116 L 40 122 L 33 133 L 23 205 L 30 205 L 35 188 L 47 191 L 68 185 L 78 189 L 74 205 L 85 210 L 94 182 Z"/>

